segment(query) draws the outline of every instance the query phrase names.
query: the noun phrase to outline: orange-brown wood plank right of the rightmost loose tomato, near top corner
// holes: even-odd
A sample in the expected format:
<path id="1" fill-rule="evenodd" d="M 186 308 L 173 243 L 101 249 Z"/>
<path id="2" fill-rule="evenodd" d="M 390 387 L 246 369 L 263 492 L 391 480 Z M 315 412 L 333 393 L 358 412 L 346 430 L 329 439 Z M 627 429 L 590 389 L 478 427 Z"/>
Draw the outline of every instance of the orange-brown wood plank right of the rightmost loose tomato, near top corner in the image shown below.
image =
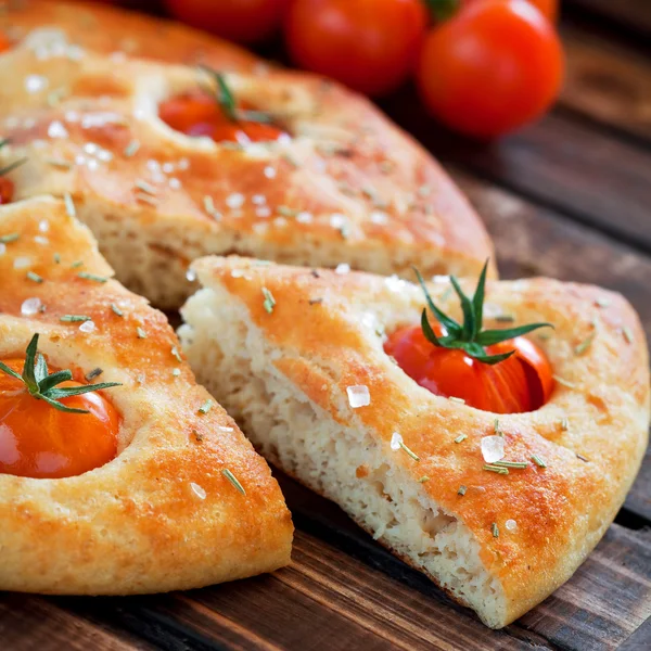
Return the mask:
<path id="1" fill-rule="evenodd" d="M 567 67 L 561 105 L 651 142 L 651 59 L 585 29 L 564 28 L 562 36 Z"/>

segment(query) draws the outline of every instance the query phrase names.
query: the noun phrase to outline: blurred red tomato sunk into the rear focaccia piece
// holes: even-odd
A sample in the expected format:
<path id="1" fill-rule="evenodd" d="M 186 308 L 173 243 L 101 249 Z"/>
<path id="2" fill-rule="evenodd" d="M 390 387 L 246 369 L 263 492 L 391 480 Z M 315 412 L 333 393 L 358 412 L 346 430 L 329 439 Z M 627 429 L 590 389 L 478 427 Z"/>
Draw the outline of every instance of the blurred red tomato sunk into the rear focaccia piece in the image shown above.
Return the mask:
<path id="1" fill-rule="evenodd" d="M 248 110 L 242 106 L 242 110 Z M 158 116 L 173 129 L 187 136 L 207 136 L 216 142 L 261 142 L 278 140 L 285 135 L 273 125 L 246 119 L 230 120 L 215 98 L 192 92 L 166 100 L 158 106 Z"/>

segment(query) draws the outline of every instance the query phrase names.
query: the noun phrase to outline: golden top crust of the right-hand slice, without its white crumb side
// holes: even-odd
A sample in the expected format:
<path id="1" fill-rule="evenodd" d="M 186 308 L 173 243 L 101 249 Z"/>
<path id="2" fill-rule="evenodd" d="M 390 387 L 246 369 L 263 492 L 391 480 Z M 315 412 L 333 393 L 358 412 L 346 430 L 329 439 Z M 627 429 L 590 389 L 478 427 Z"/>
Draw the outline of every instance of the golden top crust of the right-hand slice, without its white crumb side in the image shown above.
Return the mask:
<path id="1" fill-rule="evenodd" d="M 343 424 L 371 432 L 414 482 L 430 477 L 422 490 L 472 532 L 484 565 L 503 588 L 502 625 L 566 580 L 612 522 L 641 462 L 649 424 L 644 335 L 618 294 L 549 279 L 487 288 L 486 314 L 556 327 L 549 339 L 534 335 L 557 376 L 549 403 L 532 413 L 499 416 L 506 459 L 529 461 L 503 476 L 482 469 L 481 438 L 495 433 L 496 414 L 431 394 L 383 352 L 378 323 L 416 322 L 423 306 L 418 288 L 365 273 L 316 277 L 237 257 L 205 258 L 193 268 L 203 284 L 219 284 L 246 306 L 280 352 L 277 368 L 301 392 Z M 448 286 L 435 283 L 432 293 L 454 314 L 454 298 L 443 297 Z M 263 288 L 275 297 L 272 314 Z M 370 406 L 333 413 L 334 396 L 353 385 L 369 388 Z M 419 463 L 390 449 L 396 431 Z M 455 444 L 460 433 L 468 438 Z M 547 468 L 531 462 L 534 455 Z M 464 496 L 457 494 L 461 485 Z M 507 529 L 507 520 L 515 521 L 515 531 Z"/>

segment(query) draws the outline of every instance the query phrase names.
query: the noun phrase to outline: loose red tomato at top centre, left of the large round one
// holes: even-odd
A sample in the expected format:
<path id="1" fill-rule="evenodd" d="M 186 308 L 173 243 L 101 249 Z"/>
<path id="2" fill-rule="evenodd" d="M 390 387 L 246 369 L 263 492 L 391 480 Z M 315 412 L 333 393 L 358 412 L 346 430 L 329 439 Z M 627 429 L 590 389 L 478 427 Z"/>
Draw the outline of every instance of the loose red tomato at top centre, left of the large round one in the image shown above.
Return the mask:
<path id="1" fill-rule="evenodd" d="M 426 26 L 422 0 L 295 0 L 285 36 L 302 67 L 379 95 L 411 73 Z"/>

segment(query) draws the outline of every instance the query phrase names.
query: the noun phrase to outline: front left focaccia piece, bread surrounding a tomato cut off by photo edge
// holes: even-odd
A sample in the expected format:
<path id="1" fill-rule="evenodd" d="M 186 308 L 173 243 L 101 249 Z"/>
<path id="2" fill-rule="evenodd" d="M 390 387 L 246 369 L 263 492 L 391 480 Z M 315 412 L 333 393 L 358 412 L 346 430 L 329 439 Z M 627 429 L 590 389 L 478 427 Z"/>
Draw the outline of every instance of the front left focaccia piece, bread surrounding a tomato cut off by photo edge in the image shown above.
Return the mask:
<path id="1" fill-rule="evenodd" d="M 0 207 L 0 359 L 39 333 L 52 368 L 122 383 L 105 394 L 122 417 L 115 459 L 65 478 L 0 474 L 0 589 L 157 592 L 285 565 L 280 488 L 164 315 L 111 279 L 61 202 Z"/>

